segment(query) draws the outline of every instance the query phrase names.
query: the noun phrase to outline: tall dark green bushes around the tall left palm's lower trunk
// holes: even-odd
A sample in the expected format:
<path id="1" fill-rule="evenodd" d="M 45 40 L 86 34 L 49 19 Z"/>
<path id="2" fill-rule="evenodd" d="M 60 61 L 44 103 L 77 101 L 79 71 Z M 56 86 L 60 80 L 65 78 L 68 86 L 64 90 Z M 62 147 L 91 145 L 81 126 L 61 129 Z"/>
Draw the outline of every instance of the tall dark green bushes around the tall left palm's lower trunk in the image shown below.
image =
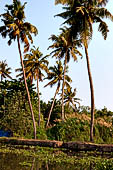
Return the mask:
<path id="1" fill-rule="evenodd" d="M 38 122 L 38 102 L 36 92 L 33 91 L 33 85 L 28 82 L 29 91 L 31 92 L 31 100 L 33 110 Z M 4 95 L 4 88 L 6 93 Z M 27 94 L 24 86 L 24 82 L 19 81 L 6 81 L 0 83 L 0 129 L 10 130 L 13 136 L 16 137 L 33 137 L 33 124 L 31 118 L 31 112 L 29 110 L 29 104 Z M 5 101 L 5 102 L 4 102 Z M 41 117 L 42 125 L 38 138 L 45 139 L 44 121 Z M 38 126 L 37 126 L 38 127 Z"/>

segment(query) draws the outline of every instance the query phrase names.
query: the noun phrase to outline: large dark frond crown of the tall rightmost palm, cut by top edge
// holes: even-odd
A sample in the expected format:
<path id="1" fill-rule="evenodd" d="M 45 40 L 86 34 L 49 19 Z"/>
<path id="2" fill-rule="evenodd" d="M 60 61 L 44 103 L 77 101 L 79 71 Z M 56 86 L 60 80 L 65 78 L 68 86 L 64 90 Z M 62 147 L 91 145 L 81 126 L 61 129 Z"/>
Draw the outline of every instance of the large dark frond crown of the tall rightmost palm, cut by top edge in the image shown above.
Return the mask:
<path id="1" fill-rule="evenodd" d="M 86 43 L 91 40 L 93 23 L 99 23 L 98 30 L 106 39 L 109 30 L 103 18 L 109 18 L 113 21 L 113 16 L 106 8 L 100 7 L 102 4 L 106 4 L 106 1 L 71 0 L 64 7 L 65 12 L 57 16 L 64 18 L 64 23 L 70 25 L 76 39 L 79 38 Z"/>

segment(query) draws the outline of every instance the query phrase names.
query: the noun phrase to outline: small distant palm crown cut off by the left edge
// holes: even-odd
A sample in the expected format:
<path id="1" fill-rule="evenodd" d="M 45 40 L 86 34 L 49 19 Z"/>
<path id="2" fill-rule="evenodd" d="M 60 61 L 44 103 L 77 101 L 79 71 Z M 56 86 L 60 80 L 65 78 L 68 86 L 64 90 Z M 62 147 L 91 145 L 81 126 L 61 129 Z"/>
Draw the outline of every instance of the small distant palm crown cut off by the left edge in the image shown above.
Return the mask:
<path id="1" fill-rule="evenodd" d="M 6 63 L 6 60 L 4 61 L 0 61 L 0 75 L 1 75 L 1 81 L 3 80 L 3 78 L 10 78 L 12 79 L 12 77 L 10 76 L 11 74 L 11 68 L 8 67 L 8 64 Z"/>

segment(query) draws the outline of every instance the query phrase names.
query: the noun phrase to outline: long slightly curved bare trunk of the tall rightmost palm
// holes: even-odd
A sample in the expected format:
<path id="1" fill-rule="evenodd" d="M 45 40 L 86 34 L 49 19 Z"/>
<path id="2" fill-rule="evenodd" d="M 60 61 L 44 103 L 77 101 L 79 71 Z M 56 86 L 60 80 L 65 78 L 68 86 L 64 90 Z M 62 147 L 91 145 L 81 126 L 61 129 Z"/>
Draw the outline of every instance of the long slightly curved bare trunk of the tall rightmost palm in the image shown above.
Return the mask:
<path id="1" fill-rule="evenodd" d="M 90 82 L 90 91 L 91 91 L 91 123 L 90 123 L 90 141 L 93 142 L 93 131 L 94 131 L 94 88 L 93 88 L 93 81 L 91 76 L 91 70 L 90 70 L 90 63 L 89 63 L 89 56 L 88 56 L 88 49 L 85 45 L 85 54 L 86 54 L 86 61 L 87 61 L 87 69 L 88 69 L 88 76 L 89 76 L 89 82 Z"/>

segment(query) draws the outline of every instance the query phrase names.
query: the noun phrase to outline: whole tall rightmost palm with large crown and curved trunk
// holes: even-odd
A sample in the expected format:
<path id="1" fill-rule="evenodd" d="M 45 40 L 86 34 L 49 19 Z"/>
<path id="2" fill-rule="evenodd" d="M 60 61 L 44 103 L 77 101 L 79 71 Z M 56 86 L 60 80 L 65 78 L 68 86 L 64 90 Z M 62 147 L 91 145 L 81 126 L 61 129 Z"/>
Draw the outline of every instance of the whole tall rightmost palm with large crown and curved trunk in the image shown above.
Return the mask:
<path id="1" fill-rule="evenodd" d="M 59 2 L 61 3 L 61 2 Z M 102 1 L 67 1 L 65 12 L 58 14 L 65 19 L 66 24 L 69 24 L 73 38 L 80 38 L 82 45 L 85 49 L 86 54 L 86 62 L 90 83 L 90 91 L 91 91 L 91 124 L 90 124 L 90 141 L 93 141 L 93 127 L 94 127 L 94 88 L 93 81 L 90 69 L 89 55 L 88 55 L 88 44 L 92 39 L 93 34 L 93 23 L 99 23 L 98 31 L 100 31 L 104 37 L 107 38 L 108 26 L 103 18 L 109 18 L 113 21 L 112 14 L 104 7 L 106 5 L 107 0 Z"/>

